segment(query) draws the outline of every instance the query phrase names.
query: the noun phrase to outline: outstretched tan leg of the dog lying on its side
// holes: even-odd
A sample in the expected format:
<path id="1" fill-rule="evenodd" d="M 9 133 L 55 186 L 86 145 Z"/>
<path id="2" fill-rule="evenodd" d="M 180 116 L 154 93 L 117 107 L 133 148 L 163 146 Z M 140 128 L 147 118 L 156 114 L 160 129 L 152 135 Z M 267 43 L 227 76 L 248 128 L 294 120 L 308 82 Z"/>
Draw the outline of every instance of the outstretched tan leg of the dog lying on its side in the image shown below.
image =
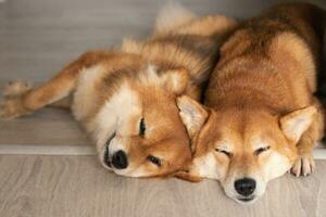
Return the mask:
<path id="1" fill-rule="evenodd" d="M 9 84 L 3 91 L 4 103 L 0 107 L 0 117 L 11 119 L 30 114 L 52 103 L 55 105 L 55 102 L 74 91 L 82 68 L 90 67 L 109 56 L 108 52 L 87 52 L 37 88 L 32 88 L 23 81 Z"/>

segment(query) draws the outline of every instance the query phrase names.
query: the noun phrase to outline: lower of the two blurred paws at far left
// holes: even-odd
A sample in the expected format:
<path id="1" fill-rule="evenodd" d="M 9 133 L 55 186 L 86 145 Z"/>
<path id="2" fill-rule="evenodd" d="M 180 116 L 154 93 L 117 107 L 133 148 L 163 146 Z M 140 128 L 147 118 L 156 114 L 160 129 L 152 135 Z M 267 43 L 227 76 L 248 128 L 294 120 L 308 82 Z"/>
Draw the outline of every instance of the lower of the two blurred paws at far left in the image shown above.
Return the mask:
<path id="1" fill-rule="evenodd" d="M 24 107 L 23 99 L 21 97 L 7 98 L 4 103 L 0 106 L 1 119 L 13 119 L 29 113 L 30 111 Z"/>

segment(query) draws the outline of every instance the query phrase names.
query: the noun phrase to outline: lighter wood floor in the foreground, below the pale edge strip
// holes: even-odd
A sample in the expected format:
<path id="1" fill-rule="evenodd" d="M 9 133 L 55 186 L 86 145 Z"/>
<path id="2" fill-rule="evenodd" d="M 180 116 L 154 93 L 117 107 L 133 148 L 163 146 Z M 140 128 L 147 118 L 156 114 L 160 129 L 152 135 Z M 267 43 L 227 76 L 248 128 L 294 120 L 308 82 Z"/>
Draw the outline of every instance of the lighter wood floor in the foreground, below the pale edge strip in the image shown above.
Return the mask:
<path id="1" fill-rule="evenodd" d="M 242 216 L 323 217 L 326 162 L 308 178 L 286 175 L 241 206 L 213 180 L 136 179 L 103 169 L 91 156 L 0 156 L 1 217 Z"/>

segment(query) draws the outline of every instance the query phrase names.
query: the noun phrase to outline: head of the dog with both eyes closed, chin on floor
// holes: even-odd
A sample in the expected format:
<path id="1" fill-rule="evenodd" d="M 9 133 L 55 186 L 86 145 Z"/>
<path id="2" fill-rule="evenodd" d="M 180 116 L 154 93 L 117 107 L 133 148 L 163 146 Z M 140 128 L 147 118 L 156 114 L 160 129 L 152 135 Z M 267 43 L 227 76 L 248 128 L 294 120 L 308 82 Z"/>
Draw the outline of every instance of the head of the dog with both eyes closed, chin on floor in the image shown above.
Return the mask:
<path id="1" fill-rule="evenodd" d="M 252 107 L 213 111 L 187 97 L 178 106 L 193 142 L 190 175 L 218 179 L 241 203 L 253 202 L 269 180 L 290 169 L 296 143 L 316 112 L 313 106 L 285 115 Z"/>

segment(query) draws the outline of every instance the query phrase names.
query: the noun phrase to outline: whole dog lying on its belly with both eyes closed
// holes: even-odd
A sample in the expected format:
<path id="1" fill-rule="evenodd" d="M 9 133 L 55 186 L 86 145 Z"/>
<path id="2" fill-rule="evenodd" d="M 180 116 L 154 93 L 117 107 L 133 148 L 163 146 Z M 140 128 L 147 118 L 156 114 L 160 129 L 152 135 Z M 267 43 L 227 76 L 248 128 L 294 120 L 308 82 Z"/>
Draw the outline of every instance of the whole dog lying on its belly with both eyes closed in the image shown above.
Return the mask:
<path id="1" fill-rule="evenodd" d="M 280 4 L 239 25 L 221 48 L 205 106 L 178 100 L 193 152 L 179 177 L 218 179 L 228 196 L 252 202 L 290 168 L 313 173 L 324 127 L 314 92 L 325 17 L 311 4 Z"/>

